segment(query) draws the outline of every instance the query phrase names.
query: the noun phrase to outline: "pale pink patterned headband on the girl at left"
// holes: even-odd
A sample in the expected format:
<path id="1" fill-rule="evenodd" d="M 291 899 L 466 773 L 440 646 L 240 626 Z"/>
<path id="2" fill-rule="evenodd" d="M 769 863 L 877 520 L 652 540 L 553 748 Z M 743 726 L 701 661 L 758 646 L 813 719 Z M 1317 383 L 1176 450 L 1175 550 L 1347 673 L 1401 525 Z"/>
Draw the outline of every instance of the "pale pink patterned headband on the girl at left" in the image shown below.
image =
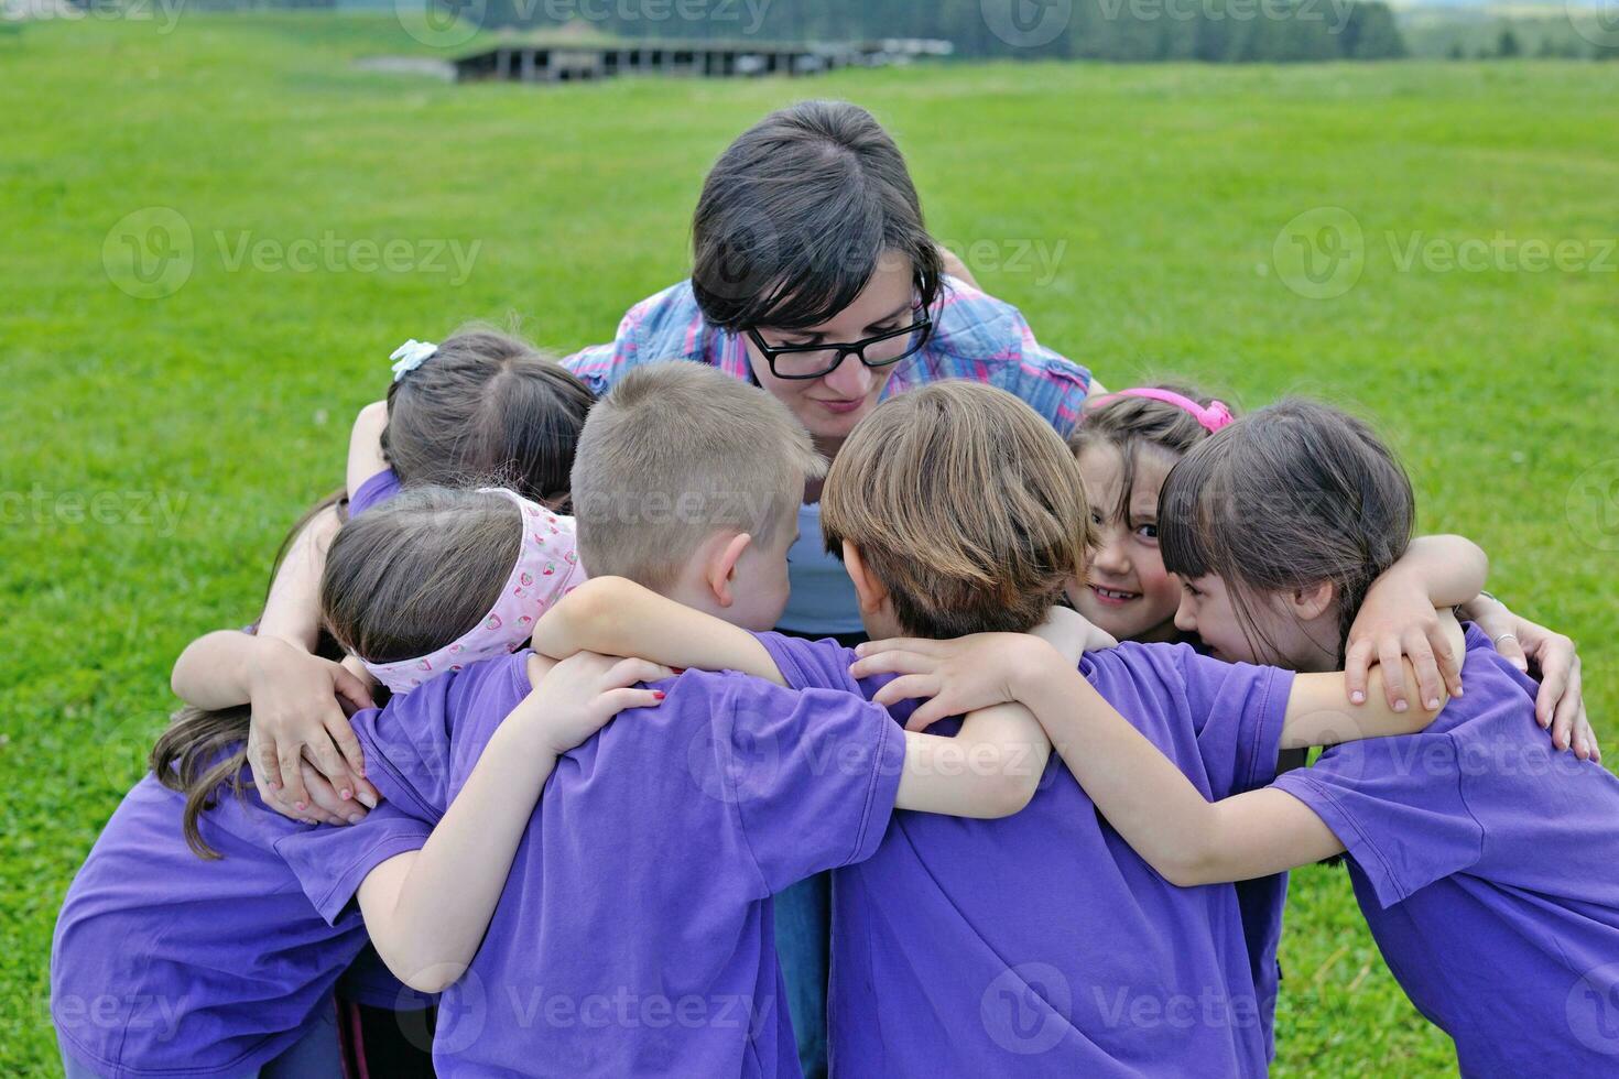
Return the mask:
<path id="1" fill-rule="evenodd" d="M 523 514 L 523 547 L 516 565 L 494 608 L 460 639 L 416 660 L 366 663 L 366 670 L 397 694 L 410 692 L 444 671 L 458 671 L 468 663 L 516 652 L 534 634 L 534 623 L 546 608 L 584 582 L 573 518 L 557 516 L 504 487 L 482 490 L 500 492 Z"/>

